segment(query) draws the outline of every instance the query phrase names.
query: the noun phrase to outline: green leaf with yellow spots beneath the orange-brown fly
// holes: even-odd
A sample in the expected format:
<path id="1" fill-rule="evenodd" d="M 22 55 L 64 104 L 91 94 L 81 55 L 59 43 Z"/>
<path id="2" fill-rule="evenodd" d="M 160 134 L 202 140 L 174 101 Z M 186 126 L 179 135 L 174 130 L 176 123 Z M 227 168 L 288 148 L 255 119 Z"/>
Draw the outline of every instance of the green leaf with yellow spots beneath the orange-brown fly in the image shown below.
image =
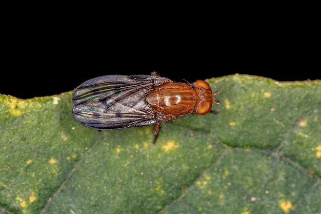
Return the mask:
<path id="1" fill-rule="evenodd" d="M 208 80 L 216 114 L 101 131 L 0 94 L 0 213 L 321 213 L 321 81 Z"/>

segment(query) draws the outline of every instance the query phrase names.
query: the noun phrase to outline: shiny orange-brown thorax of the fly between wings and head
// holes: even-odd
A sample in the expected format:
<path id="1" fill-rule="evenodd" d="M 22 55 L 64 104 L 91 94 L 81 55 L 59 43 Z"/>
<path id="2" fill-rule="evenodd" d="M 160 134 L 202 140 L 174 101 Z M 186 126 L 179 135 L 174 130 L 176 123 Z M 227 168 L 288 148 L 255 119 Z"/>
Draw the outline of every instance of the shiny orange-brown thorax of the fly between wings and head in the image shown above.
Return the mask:
<path id="1" fill-rule="evenodd" d="M 194 111 L 197 96 L 189 84 L 168 83 L 151 91 L 146 102 L 153 110 L 178 119 Z"/>

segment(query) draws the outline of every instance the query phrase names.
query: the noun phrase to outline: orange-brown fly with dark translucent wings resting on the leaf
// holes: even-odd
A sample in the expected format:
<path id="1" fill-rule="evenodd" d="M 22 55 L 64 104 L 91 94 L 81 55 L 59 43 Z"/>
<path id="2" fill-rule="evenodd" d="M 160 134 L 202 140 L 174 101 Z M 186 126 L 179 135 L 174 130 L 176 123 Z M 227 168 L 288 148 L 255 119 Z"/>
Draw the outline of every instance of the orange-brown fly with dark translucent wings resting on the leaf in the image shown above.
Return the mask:
<path id="1" fill-rule="evenodd" d="M 151 75 L 106 75 L 88 80 L 72 93 L 73 116 L 97 130 L 114 130 L 160 124 L 190 114 L 207 114 L 219 104 L 210 85 L 197 80 L 179 83 L 156 72 Z"/>

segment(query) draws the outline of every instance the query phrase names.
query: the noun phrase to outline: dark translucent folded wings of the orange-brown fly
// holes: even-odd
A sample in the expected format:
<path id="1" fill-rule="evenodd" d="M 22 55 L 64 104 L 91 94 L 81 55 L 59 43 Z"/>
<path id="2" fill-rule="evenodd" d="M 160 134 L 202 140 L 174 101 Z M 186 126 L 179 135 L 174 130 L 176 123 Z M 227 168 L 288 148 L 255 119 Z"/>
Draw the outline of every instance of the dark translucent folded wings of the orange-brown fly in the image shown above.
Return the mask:
<path id="1" fill-rule="evenodd" d="M 106 75 L 88 80 L 72 94 L 74 118 L 98 130 L 154 125 L 145 96 L 166 82 L 170 80 L 152 75 Z"/>

